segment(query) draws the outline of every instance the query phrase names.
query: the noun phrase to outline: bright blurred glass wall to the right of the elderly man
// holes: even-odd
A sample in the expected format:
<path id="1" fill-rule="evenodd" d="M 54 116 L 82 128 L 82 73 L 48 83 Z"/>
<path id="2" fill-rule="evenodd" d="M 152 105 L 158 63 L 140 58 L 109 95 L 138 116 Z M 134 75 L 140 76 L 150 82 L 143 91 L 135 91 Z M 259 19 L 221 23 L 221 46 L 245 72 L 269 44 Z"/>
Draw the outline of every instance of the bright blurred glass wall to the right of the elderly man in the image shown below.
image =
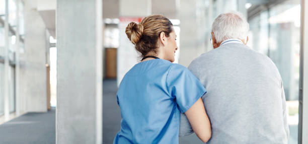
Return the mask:
<path id="1" fill-rule="evenodd" d="M 268 55 L 281 75 L 287 100 L 289 143 L 297 143 L 300 1 L 284 1 L 249 20 L 250 42 Z"/>

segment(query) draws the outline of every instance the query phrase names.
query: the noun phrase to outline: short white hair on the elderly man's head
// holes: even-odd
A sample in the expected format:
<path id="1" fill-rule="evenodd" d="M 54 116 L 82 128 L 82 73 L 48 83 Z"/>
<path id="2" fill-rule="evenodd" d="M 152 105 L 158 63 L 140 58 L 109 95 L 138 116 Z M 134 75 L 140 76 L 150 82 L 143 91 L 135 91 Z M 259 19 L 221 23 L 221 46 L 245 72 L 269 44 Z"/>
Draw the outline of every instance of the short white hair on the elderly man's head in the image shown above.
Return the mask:
<path id="1" fill-rule="evenodd" d="M 243 14 L 239 12 L 229 12 L 220 14 L 212 24 L 217 43 L 229 38 L 247 40 L 249 24 Z"/>

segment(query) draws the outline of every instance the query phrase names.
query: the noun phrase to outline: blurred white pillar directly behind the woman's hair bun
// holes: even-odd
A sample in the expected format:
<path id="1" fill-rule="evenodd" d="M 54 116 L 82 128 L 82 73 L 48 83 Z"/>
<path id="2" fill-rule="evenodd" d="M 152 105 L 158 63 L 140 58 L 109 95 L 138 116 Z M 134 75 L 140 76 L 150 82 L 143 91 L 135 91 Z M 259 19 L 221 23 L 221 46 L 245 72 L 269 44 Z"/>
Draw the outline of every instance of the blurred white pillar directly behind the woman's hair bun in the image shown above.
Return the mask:
<path id="1" fill-rule="evenodd" d="M 120 44 L 117 50 L 117 83 L 118 86 L 127 71 L 139 62 L 134 45 L 125 34 L 128 23 L 139 23 L 143 17 L 151 14 L 151 0 L 120 0 Z"/>

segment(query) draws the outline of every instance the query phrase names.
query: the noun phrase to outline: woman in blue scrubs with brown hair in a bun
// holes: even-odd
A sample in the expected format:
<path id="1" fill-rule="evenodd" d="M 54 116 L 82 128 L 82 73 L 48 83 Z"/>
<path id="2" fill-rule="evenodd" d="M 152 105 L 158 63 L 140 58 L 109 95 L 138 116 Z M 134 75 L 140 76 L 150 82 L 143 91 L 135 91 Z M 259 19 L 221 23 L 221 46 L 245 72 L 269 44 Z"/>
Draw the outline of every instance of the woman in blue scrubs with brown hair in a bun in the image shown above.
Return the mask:
<path id="1" fill-rule="evenodd" d="M 180 113 L 206 142 L 211 126 L 201 96 L 205 88 L 174 61 L 176 34 L 162 15 L 131 22 L 125 31 L 142 59 L 124 76 L 117 92 L 121 129 L 113 143 L 179 143 Z"/>

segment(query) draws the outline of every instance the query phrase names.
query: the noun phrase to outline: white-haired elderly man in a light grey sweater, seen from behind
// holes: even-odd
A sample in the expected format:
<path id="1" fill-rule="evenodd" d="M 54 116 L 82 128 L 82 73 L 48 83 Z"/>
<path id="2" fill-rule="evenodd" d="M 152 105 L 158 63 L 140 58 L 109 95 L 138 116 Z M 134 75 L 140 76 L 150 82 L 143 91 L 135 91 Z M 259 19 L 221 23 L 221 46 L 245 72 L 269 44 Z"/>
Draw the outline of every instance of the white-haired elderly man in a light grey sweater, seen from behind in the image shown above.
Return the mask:
<path id="1" fill-rule="evenodd" d="M 207 143 L 288 142 L 279 71 L 270 58 L 246 45 L 248 30 L 242 14 L 219 15 L 212 24 L 214 49 L 188 67 L 208 91 L 202 98 L 212 126 Z M 180 136 L 190 133 L 182 114 Z"/>

